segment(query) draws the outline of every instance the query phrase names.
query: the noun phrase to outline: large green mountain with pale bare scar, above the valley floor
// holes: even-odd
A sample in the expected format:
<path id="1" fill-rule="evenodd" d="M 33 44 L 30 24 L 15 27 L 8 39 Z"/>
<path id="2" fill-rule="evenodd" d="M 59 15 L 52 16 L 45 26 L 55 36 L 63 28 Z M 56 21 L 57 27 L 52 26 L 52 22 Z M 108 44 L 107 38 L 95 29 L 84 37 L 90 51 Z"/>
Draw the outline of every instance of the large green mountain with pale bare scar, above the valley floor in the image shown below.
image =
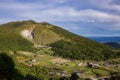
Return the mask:
<path id="1" fill-rule="evenodd" d="M 0 25 L 0 51 L 36 52 L 48 46 L 53 56 L 78 60 L 107 60 L 118 58 L 120 52 L 112 47 L 73 34 L 46 22 L 32 20 Z"/>

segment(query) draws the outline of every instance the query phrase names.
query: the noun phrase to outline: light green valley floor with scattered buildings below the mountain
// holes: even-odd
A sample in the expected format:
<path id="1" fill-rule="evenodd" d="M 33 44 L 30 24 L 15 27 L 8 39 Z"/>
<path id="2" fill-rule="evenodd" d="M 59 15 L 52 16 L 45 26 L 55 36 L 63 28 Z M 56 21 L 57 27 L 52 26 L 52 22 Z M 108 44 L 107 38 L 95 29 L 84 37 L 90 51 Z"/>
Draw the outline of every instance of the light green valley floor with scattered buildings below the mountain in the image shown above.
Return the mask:
<path id="1" fill-rule="evenodd" d="M 111 77 L 112 73 L 120 72 L 120 59 L 107 61 L 92 61 L 92 60 L 71 60 L 61 57 L 51 56 L 50 49 L 43 48 L 37 53 L 17 51 L 10 53 L 18 61 L 16 66 L 22 73 L 29 74 L 31 68 L 37 67 L 48 69 L 46 75 L 49 77 L 66 77 L 69 78 L 72 73 L 81 79 L 98 80 Z M 28 70 L 21 69 L 27 68 Z M 24 67 L 23 67 L 24 65 Z M 35 71 L 37 72 L 37 71 Z M 39 71 L 38 71 L 39 72 Z M 32 74 L 36 76 L 35 73 Z M 40 76 L 40 75 L 39 75 Z"/>

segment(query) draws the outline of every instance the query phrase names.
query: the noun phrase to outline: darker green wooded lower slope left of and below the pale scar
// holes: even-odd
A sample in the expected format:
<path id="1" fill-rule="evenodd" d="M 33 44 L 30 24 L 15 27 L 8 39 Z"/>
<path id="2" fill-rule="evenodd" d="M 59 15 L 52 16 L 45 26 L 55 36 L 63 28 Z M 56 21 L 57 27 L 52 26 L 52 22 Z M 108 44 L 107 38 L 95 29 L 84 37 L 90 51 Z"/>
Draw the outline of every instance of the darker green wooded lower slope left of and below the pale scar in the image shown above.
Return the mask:
<path id="1" fill-rule="evenodd" d="M 0 34 L 0 51 L 35 51 L 33 44 L 15 33 Z"/>

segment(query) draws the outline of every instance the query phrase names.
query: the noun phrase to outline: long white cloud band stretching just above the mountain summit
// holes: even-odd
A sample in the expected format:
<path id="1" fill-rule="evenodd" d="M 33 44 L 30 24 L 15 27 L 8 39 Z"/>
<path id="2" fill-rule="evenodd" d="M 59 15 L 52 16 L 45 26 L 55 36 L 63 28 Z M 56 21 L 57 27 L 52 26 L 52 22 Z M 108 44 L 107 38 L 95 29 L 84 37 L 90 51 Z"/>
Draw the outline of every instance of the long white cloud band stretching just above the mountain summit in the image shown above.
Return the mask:
<path id="1" fill-rule="evenodd" d="M 117 23 L 120 21 L 119 15 L 113 15 L 93 9 L 75 10 L 70 7 L 46 9 L 40 11 L 28 11 L 20 13 L 21 17 L 33 19 L 45 19 L 48 21 L 81 21 L 96 23 Z"/>

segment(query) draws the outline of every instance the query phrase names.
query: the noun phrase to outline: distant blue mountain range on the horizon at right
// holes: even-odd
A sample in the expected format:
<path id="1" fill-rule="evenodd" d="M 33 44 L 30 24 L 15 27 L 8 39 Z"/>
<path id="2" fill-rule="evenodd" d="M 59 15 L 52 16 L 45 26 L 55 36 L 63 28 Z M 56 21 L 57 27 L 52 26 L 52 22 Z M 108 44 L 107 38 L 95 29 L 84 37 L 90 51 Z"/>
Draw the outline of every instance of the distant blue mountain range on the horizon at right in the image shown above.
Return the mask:
<path id="1" fill-rule="evenodd" d="M 88 37 L 91 40 L 106 43 L 106 42 L 117 42 L 120 43 L 120 36 L 111 36 L 111 37 Z"/>

